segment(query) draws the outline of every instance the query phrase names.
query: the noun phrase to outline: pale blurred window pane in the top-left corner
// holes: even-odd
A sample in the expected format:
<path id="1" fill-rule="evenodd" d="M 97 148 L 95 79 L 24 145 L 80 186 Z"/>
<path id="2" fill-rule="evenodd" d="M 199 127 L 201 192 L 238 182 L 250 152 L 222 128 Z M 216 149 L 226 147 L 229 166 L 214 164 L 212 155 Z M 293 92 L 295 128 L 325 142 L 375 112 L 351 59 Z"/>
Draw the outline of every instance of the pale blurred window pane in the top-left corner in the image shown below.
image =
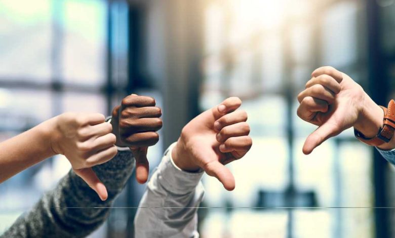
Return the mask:
<path id="1" fill-rule="evenodd" d="M 0 80 L 49 82 L 51 1 L 0 0 Z"/>

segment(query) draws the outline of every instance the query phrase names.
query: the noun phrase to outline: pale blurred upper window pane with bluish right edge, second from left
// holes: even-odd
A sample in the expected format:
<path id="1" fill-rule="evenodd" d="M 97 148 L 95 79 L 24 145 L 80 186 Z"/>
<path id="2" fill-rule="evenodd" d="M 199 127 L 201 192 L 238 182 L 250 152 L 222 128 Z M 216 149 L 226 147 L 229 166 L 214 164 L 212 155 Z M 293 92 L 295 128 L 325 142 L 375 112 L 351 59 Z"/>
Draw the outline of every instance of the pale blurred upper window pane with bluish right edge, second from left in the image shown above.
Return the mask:
<path id="1" fill-rule="evenodd" d="M 63 77 L 66 83 L 100 85 L 105 82 L 105 1 L 63 2 Z"/>

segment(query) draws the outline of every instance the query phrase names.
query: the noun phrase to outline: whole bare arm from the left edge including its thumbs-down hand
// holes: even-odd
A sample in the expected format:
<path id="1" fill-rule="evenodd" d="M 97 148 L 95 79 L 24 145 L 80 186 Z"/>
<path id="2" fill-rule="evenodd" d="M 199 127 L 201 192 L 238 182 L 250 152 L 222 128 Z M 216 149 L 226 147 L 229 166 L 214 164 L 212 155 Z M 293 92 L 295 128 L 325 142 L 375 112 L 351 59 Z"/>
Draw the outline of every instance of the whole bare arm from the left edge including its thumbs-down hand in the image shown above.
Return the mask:
<path id="1" fill-rule="evenodd" d="M 104 120 L 98 113 L 63 113 L 0 143 L 0 182 L 47 157 L 63 154 L 74 172 L 105 200 L 106 188 L 91 168 L 116 154 L 116 138 Z"/>

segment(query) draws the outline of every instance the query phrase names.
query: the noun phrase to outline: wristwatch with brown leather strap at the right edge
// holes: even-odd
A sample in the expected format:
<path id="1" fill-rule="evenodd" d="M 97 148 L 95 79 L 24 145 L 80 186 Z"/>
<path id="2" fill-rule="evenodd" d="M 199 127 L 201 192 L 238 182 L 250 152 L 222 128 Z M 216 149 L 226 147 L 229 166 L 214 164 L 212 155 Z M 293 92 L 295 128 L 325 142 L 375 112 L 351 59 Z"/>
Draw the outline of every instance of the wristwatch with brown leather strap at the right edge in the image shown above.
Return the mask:
<path id="1" fill-rule="evenodd" d="M 362 132 L 354 129 L 354 135 L 360 141 L 371 146 L 379 146 L 388 143 L 395 131 L 395 101 L 388 103 L 388 109 L 380 106 L 384 111 L 383 127 L 379 129 L 377 135 L 373 138 L 367 138 Z"/>

